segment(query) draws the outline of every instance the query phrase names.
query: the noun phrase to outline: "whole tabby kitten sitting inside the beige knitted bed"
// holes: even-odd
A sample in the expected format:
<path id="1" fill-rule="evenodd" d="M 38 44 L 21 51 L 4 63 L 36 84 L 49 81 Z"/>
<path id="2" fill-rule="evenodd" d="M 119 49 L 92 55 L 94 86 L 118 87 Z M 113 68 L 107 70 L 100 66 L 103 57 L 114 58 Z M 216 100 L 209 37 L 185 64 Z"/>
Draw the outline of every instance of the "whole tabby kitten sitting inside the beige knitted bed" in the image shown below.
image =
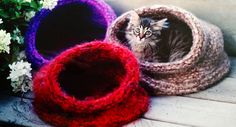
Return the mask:
<path id="1" fill-rule="evenodd" d="M 189 34 L 169 29 L 162 37 L 162 30 L 169 28 L 167 20 L 140 17 L 135 11 L 130 13 L 125 37 L 140 61 L 172 62 L 182 58 L 190 50 L 191 45 L 183 43 L 191 42 Z"/>

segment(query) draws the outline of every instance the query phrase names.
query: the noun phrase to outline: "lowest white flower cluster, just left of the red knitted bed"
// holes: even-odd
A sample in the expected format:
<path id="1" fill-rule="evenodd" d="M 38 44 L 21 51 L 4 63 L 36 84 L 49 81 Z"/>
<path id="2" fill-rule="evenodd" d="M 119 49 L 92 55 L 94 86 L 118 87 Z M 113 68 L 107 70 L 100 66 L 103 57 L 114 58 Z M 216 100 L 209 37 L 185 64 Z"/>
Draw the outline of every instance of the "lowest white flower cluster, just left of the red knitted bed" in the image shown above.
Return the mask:
<path id="1" fill-rule="evenodd" d="M 31 64 L 23 60 L 9 65 L 10 74 L 7 79 L 11 80 L 11 86 L 14 92 L 32 91 Z"/>

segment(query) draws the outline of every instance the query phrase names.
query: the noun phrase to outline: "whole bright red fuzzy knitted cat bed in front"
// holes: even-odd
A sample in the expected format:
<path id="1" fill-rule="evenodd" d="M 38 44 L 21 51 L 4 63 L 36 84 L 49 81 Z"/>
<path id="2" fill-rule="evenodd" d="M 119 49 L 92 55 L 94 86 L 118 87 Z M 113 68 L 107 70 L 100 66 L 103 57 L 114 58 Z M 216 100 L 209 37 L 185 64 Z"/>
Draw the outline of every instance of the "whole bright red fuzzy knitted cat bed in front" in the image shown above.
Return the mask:
<path id="1" fill-rule="evenodd" d="M 94 41 L 62 52 L 34 78 L 34 110 L 54 125 L 116 127 L 148 109 L 129 49 Z"/>

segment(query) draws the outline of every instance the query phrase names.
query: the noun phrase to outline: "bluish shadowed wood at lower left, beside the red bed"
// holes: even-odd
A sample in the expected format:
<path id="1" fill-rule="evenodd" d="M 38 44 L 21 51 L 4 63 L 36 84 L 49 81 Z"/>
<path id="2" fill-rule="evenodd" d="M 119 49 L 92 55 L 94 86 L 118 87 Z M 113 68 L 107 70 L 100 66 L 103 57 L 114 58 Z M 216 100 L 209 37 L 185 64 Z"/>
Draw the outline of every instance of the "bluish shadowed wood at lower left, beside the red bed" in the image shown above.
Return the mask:
<path id="1" fill-rule="evenodd" d="M 0 96 L 0 122 L 29 127 L 49 127 L 33 112 L 31 100 Z"/>

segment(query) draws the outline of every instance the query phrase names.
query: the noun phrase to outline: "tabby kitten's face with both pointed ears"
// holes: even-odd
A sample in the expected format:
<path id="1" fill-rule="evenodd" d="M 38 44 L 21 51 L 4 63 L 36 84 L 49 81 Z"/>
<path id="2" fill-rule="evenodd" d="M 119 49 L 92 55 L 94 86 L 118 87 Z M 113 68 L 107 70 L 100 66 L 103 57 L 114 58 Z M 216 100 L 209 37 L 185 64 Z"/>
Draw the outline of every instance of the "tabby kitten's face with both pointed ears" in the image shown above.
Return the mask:
<path id="1" fill-rule="evenodd" d="M 142 18 L 135 11 L 130 14 L 126 29 L 126 38 L 129 43 L 145 44 L 159 40 L 163 28 L 167 28 L 166 18 L 155 21 L 151 18 Z"/>

